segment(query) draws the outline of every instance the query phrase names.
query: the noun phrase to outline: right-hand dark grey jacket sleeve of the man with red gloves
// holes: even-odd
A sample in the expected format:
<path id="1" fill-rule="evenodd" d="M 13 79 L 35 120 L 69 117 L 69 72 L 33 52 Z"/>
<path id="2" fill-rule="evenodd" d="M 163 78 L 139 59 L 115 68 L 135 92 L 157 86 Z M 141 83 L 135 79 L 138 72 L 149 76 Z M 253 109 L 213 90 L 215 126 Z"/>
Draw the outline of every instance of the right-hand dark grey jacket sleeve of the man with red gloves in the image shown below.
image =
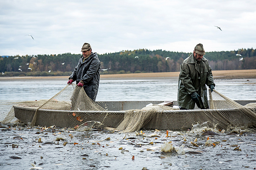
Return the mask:
<path id="1" fill-rule="evenodd" d="M 98 58 L 94 57 L 90 63 L 89 69 L 87 70 L 86 74 L 81 79 L 85 84 L 87 84 L 96 74 L 100 67 L 100 61 Z"/>

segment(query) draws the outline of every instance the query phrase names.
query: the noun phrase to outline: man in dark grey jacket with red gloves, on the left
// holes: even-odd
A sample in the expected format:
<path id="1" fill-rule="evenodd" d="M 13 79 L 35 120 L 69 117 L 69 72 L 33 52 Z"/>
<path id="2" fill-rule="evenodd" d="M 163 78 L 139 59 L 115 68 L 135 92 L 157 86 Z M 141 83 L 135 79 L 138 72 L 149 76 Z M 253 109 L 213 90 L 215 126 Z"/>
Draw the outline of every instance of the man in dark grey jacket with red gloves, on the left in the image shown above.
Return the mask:
<path id="1" fill-rule="evenodd" d="M 87 96 L 95 101 L 100 82 L 100 60 L 97 53 L 91 52 L 88 43 L 84 43 L 81 52 L 83 55 L 70 75 L 68 84 L 76 81 L 77 86 L 83 86 Z"/>

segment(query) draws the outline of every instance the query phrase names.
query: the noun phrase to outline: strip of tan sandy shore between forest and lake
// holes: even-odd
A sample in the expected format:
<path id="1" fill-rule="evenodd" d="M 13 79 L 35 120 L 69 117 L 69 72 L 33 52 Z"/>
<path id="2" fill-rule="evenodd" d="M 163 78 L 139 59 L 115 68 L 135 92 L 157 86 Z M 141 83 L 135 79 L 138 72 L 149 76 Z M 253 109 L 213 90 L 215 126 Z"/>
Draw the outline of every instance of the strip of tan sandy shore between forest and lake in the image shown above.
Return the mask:
<path id="1" fill-rule="evenodd" d="M 241 79 L 256 78 L 256 69 L 253 70 L 216 70 L 212 71 L 214 79 Z M 180 72 L 160 73 L 130 73 L 130 74 L 101 74 L 101 79 L 129 79 L 129 78 L 178 78 Z M 69 76 L 46 76 L 46 77 L 0 77 L 0 80 L 13 79 L 67 79 Z"/>

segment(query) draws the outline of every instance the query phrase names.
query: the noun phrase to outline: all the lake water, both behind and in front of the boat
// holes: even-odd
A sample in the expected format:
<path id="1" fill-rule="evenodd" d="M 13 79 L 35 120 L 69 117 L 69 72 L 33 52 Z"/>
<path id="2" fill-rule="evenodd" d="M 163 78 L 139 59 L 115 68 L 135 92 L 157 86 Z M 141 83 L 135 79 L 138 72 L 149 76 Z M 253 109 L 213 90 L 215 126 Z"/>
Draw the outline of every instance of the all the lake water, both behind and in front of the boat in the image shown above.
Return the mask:
<path id="1" fill-rule="evenodd" d="M 49 99 L 66 83 L 67 80 L 62 79 L 0 81 L 0 100 Z M 215 83 L 215 89 L 230 99 L 256 100 L 256 79 L 215 80 Z M 102 79 L 96 100 L 170 101 L 176 98 L 176 79 Z M 207 136 L 202 136 L 202 132 L 169 132 L 170 137 L 166 137 L 166 130 L 160 130 L 153 137 L 148 136 L 155 130 L 142 131 L 144 136 L 135 132 L 119 134 L 113 130 L 77 132 L 1 124 L 0 169 L 29 169 L 32 168 L 30 163 L 43 169 L 256 168 L 255 130 L 238 130 L 233 134 L 231 131 L 218 132 L 218 135 Z M 239 134 L 241 131 L 243 133 Z M 58 135 L 64 135 L 66 139 L 55 141 Z M 204 146 L 208 137 L 217 144 Z M 198 147 L 191 144 L 195 138 Z M 64 142 L 67 144 L 63 145 Z M 183 146 L 185 154 L 161 152 L 165 142 L 171 142 L 176 148 Z"/>

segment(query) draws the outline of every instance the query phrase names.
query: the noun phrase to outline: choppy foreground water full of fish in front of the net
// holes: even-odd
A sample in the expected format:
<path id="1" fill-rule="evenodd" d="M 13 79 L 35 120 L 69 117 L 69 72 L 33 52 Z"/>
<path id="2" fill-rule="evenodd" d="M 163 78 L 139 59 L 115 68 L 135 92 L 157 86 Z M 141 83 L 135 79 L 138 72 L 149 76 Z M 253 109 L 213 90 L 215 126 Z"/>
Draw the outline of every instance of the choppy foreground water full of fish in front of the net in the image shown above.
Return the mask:
<path id="1" fill-rule="evenodd" d="M 0 169 L 28 169 L 32 167 L 30 163 L 44 169 L 256 168 L 255 131 L 212 136 L 182 131 L 169 132 L 170 137 L 166 137 L 166 131 L 160 131 L 148 137 L 154 130 L 143 130 L 144 136 L 106 130 L 76 132 L 5 125 L 0 130 Z M 66 139 L 55 141 L 58 135 Z M 217 144 L 204 146 L 208 137 Z M 195 138 L 198 147 L 191 144 Z M 185 154 L 161 152 L 164 142 L 177 148 L 184 146 Z"/>

